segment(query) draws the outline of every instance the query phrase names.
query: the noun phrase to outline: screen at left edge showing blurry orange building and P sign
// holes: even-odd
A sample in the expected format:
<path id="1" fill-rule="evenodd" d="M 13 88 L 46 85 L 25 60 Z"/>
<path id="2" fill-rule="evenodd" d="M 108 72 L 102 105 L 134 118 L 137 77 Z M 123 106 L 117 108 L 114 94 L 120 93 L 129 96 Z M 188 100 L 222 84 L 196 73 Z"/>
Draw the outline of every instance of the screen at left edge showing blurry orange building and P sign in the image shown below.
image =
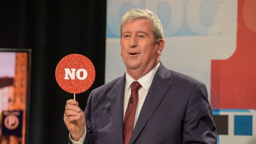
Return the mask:
<path id="1" fill-rule="evenodd" d="M 0 48 L 0 143 L 25 144 L 30 94 L 30 49 Z"/>

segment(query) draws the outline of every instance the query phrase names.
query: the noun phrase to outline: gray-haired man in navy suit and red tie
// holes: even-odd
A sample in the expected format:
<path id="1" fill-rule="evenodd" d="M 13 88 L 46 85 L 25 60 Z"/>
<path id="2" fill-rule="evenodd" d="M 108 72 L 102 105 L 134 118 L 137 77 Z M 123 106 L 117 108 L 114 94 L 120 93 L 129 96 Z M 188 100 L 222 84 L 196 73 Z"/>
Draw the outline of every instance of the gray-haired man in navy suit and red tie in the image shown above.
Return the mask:
<path id="1" fill-rule="evenodd" d="M 67 101 L 70 143 L 216 143 L 205 85 L 160 62 L 165 41 L 157 15 L 127 11 L 120 38 L 124 76 L 93 90 L 84 113 Z"/>

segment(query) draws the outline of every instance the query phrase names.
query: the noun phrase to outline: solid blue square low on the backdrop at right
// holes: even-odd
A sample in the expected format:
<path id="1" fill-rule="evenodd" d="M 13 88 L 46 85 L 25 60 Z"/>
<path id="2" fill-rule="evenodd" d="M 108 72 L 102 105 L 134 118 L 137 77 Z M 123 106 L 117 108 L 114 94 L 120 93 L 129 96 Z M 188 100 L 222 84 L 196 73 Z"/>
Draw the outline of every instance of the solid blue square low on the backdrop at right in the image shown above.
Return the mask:
<path id="1" fill-rule="evenodd" d="M 234 116 L 234 135 L 252 135 L 252 115 Z"/>

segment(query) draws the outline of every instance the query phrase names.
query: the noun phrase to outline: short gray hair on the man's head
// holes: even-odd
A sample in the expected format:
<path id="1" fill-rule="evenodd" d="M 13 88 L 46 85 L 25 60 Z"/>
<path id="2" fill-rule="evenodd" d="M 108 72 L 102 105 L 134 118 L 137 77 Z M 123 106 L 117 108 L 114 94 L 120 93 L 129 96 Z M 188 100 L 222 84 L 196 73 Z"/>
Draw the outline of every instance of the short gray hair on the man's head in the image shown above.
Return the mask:
<path id="1" fill-rule="evenodd" d="M 151 23 L 153 24 L 153 34 L 155 37 L 155 41 L 159 42 L 160 39 L 163 38 L 162 24 L 158 19 L 157 15 L 154 12 L 147 9 L 131 9 L 124 13 L 120 21 L 120 38 L 122 36 L 123 25 L 130 20 L 139 18 L 146 18 L 151 21 Z"/>

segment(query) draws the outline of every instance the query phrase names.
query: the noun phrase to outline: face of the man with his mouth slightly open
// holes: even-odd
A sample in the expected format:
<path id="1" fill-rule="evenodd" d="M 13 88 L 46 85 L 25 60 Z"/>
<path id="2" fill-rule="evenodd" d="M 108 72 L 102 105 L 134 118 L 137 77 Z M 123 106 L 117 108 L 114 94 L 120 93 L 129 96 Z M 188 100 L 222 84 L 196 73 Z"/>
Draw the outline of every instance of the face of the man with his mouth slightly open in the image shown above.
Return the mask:
<path id="1" fill-rule="evenodd" d="M 141 18 L 125 23 L 121 35 L 121 56 L 128 72 L 136 69 L 142 73 L 150 71 L 158 62 L 158 48 L 150 20 Z"/>

